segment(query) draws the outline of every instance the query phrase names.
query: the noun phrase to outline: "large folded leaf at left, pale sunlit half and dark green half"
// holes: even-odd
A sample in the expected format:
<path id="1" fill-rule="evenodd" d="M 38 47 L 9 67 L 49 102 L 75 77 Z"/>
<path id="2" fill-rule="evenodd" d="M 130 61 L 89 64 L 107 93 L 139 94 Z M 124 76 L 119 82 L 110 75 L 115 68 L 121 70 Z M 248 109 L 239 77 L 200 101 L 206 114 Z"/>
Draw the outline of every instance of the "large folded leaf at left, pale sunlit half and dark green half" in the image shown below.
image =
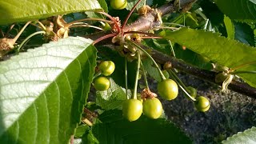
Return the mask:
<path id="1" fill-rule="evenodd" d="M 92 42 L 65 38 L 0 62 L 0 142 L 69 142 L 96 66 Z"/>

